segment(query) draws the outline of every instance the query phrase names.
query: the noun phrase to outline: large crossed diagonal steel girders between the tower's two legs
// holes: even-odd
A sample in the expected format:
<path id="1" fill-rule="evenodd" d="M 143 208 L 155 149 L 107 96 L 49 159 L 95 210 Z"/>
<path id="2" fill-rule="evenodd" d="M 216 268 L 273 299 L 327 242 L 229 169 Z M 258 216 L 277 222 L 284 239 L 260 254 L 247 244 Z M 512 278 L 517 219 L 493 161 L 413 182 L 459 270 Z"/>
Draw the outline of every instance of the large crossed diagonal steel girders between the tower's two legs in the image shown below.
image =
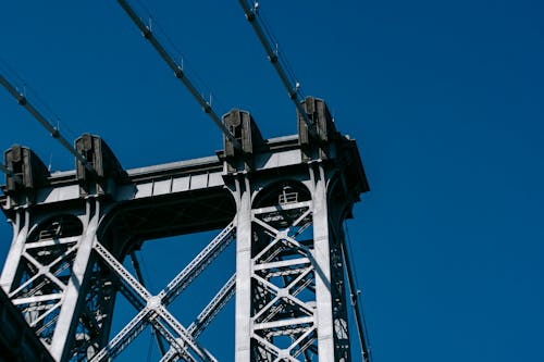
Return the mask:
<path id="1" fill-rule="evenodd" d="M 116 357 L 148 325 L 151 325 L 154 332 L 170 345 L 170 349 L 161 361 L 177 361 L 180 359 L 191 362 L 217 361 L 207 349 L 200 346 L 197 338 L 234 296 L 235 275 L 226 282 L 188 327 L 183 326 L 168 311 L 166 307 L 200 275 L 233 239 L 234 224 L 231 223 L 157 296 L 152 296 L 102 245 L 95 244 L 95 251 L 116 274 L 121 282 L 121 292 L 138 310 L 138 313 L 90 361 L 108 361 Z"/>

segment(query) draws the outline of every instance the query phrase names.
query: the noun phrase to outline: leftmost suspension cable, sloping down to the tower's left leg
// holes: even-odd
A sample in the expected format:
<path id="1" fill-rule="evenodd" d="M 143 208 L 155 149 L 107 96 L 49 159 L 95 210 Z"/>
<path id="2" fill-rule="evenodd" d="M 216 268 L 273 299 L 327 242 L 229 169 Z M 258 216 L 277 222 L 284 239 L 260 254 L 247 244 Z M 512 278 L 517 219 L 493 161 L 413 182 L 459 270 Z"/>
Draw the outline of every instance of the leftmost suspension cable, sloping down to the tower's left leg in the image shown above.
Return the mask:
<path id="1" fill-rule="evenodd" d="M 47 118 L 28 101 L 26 96 L 18 92 L 17 89 L 0 74 L 0 84 L 17 100 L 17 103 L 25 108 L 38 121 L 49 134 L 57 139 L 72 155 L 76 158 L 88 171 L 95 172 L 92 165 L 61 135 L 58 127 L 54 127 Z"/>

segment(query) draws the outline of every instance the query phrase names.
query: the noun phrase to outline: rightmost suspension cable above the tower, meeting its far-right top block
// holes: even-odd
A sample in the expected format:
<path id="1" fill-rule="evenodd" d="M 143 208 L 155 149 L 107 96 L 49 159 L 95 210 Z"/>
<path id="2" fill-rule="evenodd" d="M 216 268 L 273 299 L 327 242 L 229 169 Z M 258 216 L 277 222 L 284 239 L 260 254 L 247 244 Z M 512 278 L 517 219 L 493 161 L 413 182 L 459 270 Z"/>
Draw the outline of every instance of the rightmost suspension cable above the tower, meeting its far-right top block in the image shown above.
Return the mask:
<path id="1" fill-rule="evenodd" d="M 316 126 L 311 122 L 306 111 L 302 109 L 304 95 L 300 88 L 300 84 L 296 80 L 293 72 L 290 72 L 287 61 L 277 49 L 277 41 L 274 40 L 272 33 L 265 26 L 264 20 L 258 12 L 259 3 L 249 0 L 239 0 L 239 4 L 244 9 L 247 21 L 251 24 L 255 33 L 257 34 L 257 37 L 261 41 L 261 45 L 264 47 L 267 55 L 274 66 L 277 75 L 280 76 L 280 79 L 282 80 L 285 89 L 287 90 L 289 99 L 295 104 L 298 113 L 305 120 L 310 135 L 314 139 L 319 139 L 319 136 L 316 132 Z M 273 46 L 275 46 L 275 49 Z"/>

